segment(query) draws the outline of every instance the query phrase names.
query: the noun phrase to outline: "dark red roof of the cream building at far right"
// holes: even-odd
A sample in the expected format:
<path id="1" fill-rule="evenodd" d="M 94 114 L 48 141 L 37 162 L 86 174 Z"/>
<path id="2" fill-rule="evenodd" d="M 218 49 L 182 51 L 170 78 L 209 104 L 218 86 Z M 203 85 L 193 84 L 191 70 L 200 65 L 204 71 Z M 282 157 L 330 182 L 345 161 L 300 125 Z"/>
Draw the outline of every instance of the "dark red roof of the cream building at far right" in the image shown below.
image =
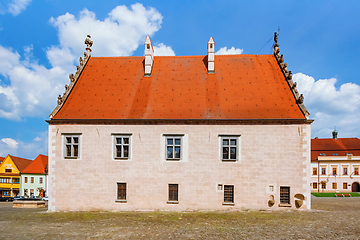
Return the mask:
<path id="1" fill-rule="evenodd" d="M 311 161 L 318 156 L 360 156 L 360 139 L 358 138 L 315 138 L 311 139 Z"/>

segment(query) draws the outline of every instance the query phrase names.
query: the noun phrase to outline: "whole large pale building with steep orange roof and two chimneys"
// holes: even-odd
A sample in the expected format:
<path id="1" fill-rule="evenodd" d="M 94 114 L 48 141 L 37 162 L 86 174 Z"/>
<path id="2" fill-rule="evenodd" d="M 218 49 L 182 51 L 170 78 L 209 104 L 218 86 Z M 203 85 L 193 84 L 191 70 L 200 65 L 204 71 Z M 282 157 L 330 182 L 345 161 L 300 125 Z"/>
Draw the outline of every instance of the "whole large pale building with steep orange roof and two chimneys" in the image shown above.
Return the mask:
<path id="1" fill-rule="evenodd" d="M 49 210 L 310 209 L 309 113 L 274 55 L 91 57 L 49 123 Z"/>

